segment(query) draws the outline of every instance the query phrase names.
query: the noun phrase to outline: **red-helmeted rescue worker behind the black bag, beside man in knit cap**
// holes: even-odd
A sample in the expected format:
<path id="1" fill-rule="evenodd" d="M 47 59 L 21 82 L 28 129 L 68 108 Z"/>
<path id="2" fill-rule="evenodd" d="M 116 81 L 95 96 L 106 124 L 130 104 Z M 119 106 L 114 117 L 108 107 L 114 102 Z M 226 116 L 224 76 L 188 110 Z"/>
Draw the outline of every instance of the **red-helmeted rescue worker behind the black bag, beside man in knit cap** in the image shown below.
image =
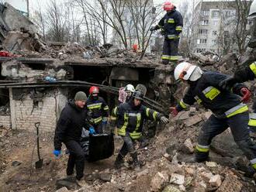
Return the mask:
<path id="1" fill-rule="evenodd" d="M 90 116 L 90 122 L 95 128 L 95 132 L 101 134 L 103 133 L 102 127 L 107 124 L 109 118 L 109 106 L 103 98 L 99 97 L 99 87 L 90 87 L 89 94 L 86 108 Z"/>

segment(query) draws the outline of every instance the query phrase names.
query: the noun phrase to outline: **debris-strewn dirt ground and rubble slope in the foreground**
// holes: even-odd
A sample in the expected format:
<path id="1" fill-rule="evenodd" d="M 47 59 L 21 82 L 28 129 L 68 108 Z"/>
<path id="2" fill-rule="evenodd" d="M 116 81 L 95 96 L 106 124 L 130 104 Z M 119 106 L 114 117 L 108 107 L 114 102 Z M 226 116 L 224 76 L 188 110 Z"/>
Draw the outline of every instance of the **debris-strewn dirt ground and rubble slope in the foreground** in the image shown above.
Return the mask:
<path id="1" fill-rule="evenodd" d="M 191 108 L 158 130 L 149 146 L 138 149 L 140 159 L 146 162 L 140 171 L 130 170 L 128 166 L 115 170 L 116 155 L 86 163 L 88 187 L 79 190 L 74 178 L 65 180 L 67 155 L 54 159 L 51 154 L 53 133 L 40 134 L 43 168 L 36 170 L 35 133 L 2 128 L 0 189 L 55 191 L 66 186 L 67 189 L 60 191 L 256 191 L 254 180 L 244 177 L 241 167 L 247 165 L 247 160 L 235 147 L 228 130 L 213 141 L 211 162 L 188 163 L 199 128 L 210 114 Z M 117 137 L 116 152 L 121 144 L 122 139 Z"/>

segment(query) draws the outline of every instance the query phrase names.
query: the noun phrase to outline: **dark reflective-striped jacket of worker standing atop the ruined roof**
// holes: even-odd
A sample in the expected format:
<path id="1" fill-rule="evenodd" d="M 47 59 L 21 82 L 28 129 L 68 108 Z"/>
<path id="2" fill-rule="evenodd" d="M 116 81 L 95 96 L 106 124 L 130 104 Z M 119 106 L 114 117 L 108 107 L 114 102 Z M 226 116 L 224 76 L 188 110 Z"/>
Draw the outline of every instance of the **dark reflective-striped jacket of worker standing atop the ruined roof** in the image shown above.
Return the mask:
<path id="1" fill-rule="evenodd" d="M 182 14 L 176 9 L 166 13 L 157 25 L 157 29 L 163 29 L 164 35 L 168 39 L 178 38 L 179 33 L 182 33 L 182 27 Z"/>

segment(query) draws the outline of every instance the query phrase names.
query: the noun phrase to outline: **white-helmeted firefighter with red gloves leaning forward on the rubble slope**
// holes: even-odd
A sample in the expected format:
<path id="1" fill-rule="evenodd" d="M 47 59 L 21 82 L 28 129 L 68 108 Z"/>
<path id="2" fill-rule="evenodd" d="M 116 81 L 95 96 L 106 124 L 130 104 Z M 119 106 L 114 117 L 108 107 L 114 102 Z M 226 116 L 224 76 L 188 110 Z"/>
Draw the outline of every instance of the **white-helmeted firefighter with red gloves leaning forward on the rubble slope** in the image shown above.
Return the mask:
<path id="1" fill-rule="evenodd" d="M 237 146 L 251 161 L 253 168 L 248 167 L 247 176 L 253 176 L 256 170 L 256 145 L 251 141 L 247 129 L 249 120 L 247 102 L 251 93 L 244 84 L 234 84 L 233 92 L 223 90 L 219 83 L 227 75 L 213 71 L 203 72 L 200 67 L 182 62 L 175 67 L 175 80 L 189 84 L 189 89 L 175 108 L 171 107 L 171 115 L 188 108 L 195 101 L 209 108 L 213 115 L 202 125 L 198 144 L 195 148 L 195 158 L 192 162 L 204 162 L 209 158 L 209 145 L 216 135 L 230 127 Z"/>

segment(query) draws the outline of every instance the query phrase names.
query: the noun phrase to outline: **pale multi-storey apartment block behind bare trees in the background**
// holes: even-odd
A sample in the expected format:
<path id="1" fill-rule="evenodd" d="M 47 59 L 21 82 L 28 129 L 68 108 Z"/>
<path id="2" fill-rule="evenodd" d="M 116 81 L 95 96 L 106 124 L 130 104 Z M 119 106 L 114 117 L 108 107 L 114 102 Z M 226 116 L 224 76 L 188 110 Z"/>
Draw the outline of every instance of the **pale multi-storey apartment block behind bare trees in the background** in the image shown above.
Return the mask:
<path id="1" fill-rule="evenodd" d="M 237 25 L 235 1 L 200 1 L 194 9 L 193 51 L 227 53 L 237 51 L 234 30 Z"/>

